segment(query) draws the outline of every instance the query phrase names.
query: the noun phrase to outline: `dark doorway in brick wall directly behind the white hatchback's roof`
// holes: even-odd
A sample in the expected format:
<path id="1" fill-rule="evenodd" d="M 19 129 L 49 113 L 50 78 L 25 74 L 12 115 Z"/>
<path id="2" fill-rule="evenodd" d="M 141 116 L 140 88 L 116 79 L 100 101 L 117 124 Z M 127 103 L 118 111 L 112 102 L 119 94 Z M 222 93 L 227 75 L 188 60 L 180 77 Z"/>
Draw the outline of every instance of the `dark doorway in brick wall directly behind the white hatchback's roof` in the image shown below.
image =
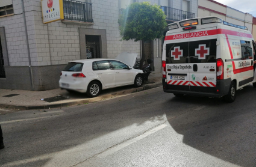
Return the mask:
<path id="1" fill-rule="evenodd" d="M 86 35 L 86 58 L 101 58 L 100 35 Z"/>

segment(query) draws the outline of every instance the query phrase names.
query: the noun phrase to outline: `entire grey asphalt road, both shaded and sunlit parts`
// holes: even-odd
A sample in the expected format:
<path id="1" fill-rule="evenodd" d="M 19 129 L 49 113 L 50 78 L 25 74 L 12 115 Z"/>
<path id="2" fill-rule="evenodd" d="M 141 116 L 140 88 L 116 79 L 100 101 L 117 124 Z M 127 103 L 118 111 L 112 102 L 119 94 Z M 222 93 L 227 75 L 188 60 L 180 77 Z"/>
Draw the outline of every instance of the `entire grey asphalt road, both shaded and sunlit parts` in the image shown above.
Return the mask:
<path id="1" fill-rule="evenodd" d="M 222 99 L 162 88 L 1 115 L 0 166 L 256 166 L 256 89 Z"/>

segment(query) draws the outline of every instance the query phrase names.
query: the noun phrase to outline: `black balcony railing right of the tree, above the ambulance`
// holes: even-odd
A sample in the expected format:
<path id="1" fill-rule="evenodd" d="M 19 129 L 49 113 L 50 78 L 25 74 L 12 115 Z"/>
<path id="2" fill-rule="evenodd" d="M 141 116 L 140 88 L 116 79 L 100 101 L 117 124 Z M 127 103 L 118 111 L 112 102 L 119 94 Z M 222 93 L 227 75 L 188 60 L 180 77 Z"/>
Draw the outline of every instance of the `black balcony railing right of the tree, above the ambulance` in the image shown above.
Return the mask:
<path id="1" fill-rule="evenodd" d="M 161 6 L 161 9 L 166 15 L 166 20 L 180 21 L 185 19 L 195 18 L 195 13 L 190 13 L 188 11 L 178 10 L 176 8 Z"/>

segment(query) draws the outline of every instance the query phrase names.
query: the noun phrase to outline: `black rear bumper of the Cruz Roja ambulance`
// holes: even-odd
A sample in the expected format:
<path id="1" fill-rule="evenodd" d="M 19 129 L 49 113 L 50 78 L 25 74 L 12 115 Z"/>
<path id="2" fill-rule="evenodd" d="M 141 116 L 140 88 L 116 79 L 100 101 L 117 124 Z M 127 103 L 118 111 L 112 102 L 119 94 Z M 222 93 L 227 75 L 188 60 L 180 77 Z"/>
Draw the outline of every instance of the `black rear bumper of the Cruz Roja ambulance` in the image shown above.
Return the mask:
<path id="1" fill-rule="evenodd" d="M 208 96 L 208 97 L 222 97 L 228 94 L 231 78 L 223 79 L 223 80 L 217 80 L 217 84 L 215 88 L 211 88 L 211 90 L 207 90 L 206 88 L 198 88 L 198 91 L 188 91 L 182 90 L 181 87 L 175 89 L 171 85 L 167 85 L 165 82 L 165 79 L 162 80 L 163 83 L 163 91 L 165 93 L 176 93 L 176 94 L 188 94 L 193 96 Z M 189 86 L 184 86 L 189 87 Z M 219 91 L 217 91 L 219 90 Z"/>

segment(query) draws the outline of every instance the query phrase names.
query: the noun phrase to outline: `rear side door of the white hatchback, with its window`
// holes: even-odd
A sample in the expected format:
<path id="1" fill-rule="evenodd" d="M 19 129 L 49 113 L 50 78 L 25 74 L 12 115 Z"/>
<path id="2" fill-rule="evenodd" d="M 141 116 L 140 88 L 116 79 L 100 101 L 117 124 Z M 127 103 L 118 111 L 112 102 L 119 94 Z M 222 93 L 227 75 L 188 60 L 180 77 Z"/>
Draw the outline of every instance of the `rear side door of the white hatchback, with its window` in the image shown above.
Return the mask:
<path id="1" fill-rule="evenodd" d="M 98 74 L 105 87 L 116 86 L 116 73 L 107 60 L 93 62 L 93 71 Z"/>

